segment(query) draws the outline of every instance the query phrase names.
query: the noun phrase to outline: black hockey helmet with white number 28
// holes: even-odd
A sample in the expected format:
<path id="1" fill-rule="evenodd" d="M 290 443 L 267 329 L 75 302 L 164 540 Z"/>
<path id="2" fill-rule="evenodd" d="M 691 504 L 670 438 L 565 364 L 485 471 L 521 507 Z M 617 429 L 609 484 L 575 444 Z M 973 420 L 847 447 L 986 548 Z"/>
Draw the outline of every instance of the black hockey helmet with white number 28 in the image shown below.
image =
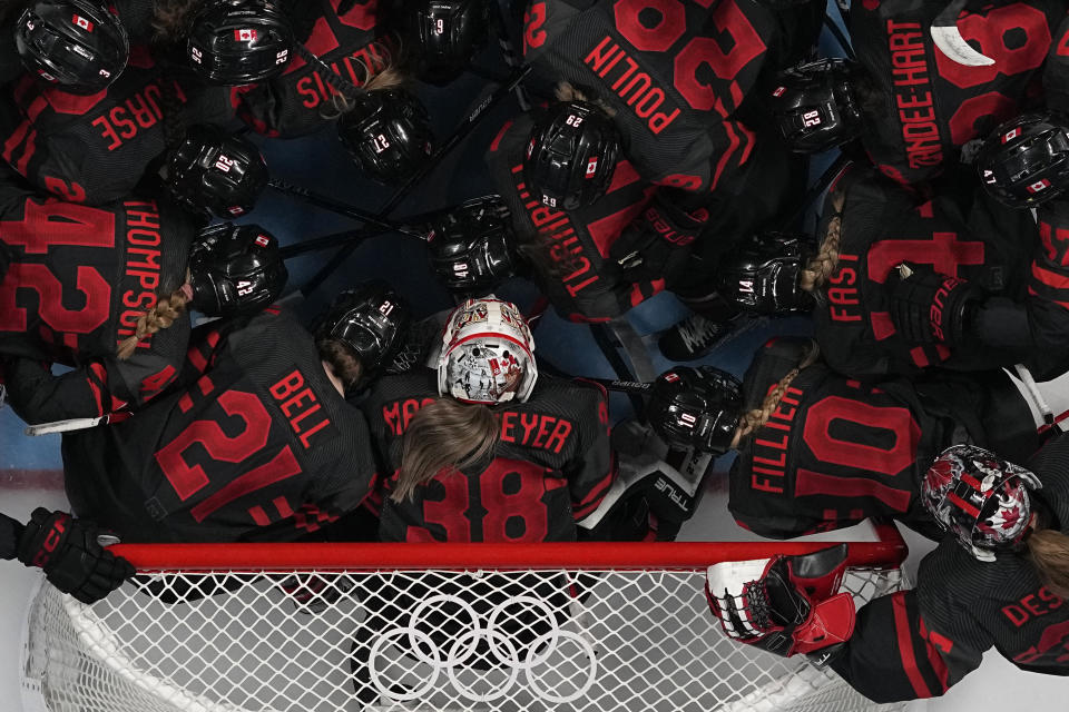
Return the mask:
<path id="1" fill-rule="evenodd" d="M 861 110 L 853 90 L 854 62 L 821 59 L 779 72 L 772 112 L 787 147 L 816 154 L 861 135 Z"/>

